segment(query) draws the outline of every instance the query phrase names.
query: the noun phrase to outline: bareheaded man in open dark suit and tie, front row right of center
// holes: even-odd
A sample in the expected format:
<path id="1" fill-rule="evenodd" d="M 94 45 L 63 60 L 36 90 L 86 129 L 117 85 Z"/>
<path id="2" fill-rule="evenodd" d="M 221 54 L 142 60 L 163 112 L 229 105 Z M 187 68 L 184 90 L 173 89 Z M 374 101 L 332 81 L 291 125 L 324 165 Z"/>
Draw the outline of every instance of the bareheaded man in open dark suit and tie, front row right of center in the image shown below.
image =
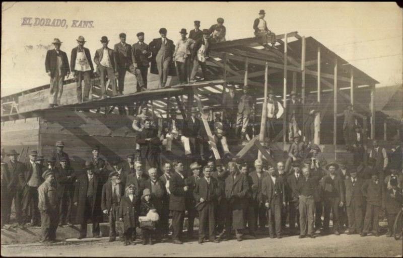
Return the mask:
<path id="1" fill-rule="evenodd" d="M 281 210 L 286 205 L 286 191 L 283 179 L 276 175 L 274 166 L 268 167 L 268 174 L 261 183 L 262 198 L 268 213 L 268 230 L 270 238 L 274 238 L 276 226 L 277 238 L 281 238 Z"/>

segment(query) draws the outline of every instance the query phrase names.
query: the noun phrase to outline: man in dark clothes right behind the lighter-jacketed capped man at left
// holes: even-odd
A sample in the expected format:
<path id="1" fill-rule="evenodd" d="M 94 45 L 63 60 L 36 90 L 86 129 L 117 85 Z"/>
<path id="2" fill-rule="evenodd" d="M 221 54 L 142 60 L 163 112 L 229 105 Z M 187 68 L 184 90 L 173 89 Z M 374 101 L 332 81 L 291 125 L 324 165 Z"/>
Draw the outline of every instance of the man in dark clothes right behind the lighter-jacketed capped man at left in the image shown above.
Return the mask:
<path id="1" fill-rule="evenodd" d="M 54 170 L 54 176 L 57 182 L 57 195 L 59 197 L 59 216 L 60 225 L 66 223 L 72 224 L 71 212 L 73 206 L 74 183 L 76 182 L 76 173 L 68 165 L 68 159 L 61 157 L 60 166 Z"/>

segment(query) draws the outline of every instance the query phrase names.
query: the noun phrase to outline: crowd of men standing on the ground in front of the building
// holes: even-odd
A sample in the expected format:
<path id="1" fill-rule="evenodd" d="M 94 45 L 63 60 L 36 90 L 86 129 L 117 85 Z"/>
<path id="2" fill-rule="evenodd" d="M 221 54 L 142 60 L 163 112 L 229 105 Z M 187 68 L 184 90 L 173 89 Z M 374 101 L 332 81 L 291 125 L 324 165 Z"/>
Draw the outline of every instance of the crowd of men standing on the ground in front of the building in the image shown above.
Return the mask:
<path id="1" fill-rule="evenodd" d="M 386 211 L 386 236 L 390 236 L 402 204 L 401 149 L 393 148 L 388 162 L 382 156 L 383 148 L 375 144 L 366 166 L 357 167 L 345 160 L 327 162 L 320 148 L 310 145 L 305 148 L 307 158 L 291 158 L 290 168 L 282 161 L 276 166 L 263 166 L 257 159 L 253 169 L 242 160 L 227 164 L 210 160 L 204 166 L 195 161 L 187 169 L 185 159 L 163 162 L 162 175 L 156 167 L 144 169 L 139 157 L 136 161 L 136 154 L 127 155 L 127 160 L 107 161 L 100 157 L 98 146 L 92 149 L 91 160 L 77 171 L 70 165 L 61 141 L 56 142 L 46 165 L 36 151 L 29 152 L 29 161 L 24 164 L 18 161 L 19 153 L 10 150 L 6 163 L 2 150 L 2 227 L 10 223 L 14 200 L 17 223 L 21 227 L 27 222 L 41 223 L 45 242 L 53 242 L 57 226 L 67 223 L 80 224 L 79 238 L 83 238 L 91 221 L 93 236 L 99 237 L 99 223 L 104 215 L 110 222 L 110 241 L 114 241 L 118 231 L 116 221 L 122 216 L 120 199 L 124 189 L 131 187 L 137 197 L 133 199 L 136 211 L 140 209 L 143 191 L 150 190 L 160 215 L 157 241 L 167 238 L 170 216 L 172 242 L 177 244 L 193 237 L 197 216 L 199 243 L 230 239 L 233 231 L 238 241 L 253 239 L 256 233 L 267 233 L 267 224 L 270 237 L 281 238 L 286 232 L 287 218 L 288 235 L 313 238 L 318 230 L 321 234 L 330 233 L 330 213 L 335 235 L 346 232 L 378 236 L 381 209 Z M 135 214 L 138 220 L 138 213 Z M 186 214 L 188 226 L 184 237 Z M 136 230 L 130 234 L 131 240 L 135 240 Z"/>

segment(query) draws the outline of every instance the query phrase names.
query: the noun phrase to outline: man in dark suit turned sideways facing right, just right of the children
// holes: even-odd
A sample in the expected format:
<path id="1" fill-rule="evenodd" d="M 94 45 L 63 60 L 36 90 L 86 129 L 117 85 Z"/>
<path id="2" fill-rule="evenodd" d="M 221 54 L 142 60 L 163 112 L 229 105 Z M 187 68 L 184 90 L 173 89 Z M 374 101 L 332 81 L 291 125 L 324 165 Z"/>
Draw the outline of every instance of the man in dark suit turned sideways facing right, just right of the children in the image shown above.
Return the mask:
<path id="1" fill-rule="evenodd" d="M 189 187 L 185 185 L 183 175 L 183 163 L 174 163 L 175 172 L 169 180 L 169 210 L 172 213 L 172 242 L 182 244 L 181 236 L 183 230 L 183 220 L 185 216 L 185 196 Z"/>

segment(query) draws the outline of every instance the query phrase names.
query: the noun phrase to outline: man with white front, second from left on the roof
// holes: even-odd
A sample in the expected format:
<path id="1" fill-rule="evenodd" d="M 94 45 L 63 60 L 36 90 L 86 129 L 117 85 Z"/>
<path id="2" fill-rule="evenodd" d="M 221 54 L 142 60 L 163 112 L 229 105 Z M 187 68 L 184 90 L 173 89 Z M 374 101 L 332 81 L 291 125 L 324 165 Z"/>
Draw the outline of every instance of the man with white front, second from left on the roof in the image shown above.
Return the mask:
<path id="1" fill-rule="evenodd" d="M 77 38 L 78 46 L 72 49 L 72 57 L 70 59 L 70 68 L 72 74 L 76 78 L 77 83 L 77 99 L 81 103 L 88 101 L 91 90 L 91 77 L 94 72 L 91 53 L 88 48 L 84 47 L 85 39 L 83 36 Z M 84 96 L 82 90 L 82 80 L 84 80 Z"/>

